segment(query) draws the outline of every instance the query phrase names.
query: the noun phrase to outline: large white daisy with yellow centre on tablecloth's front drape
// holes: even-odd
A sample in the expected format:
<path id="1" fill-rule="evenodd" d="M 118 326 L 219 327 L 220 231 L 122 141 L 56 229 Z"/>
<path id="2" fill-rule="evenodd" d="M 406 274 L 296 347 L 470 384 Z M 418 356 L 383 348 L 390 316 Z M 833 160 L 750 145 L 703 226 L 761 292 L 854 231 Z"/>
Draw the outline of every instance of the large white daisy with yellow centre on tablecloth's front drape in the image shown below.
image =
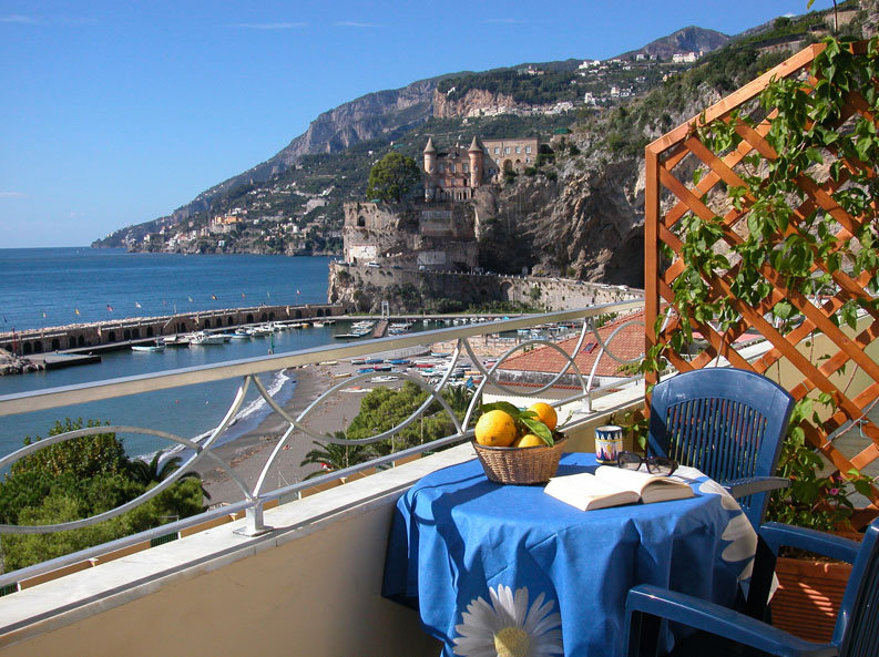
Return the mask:
<path id="1" fill-rule="evenodd" d="M 478 597 L 456 625 L 453 653 L 461 657 L 548 657 L 563 655 L 562 617 L 551 614 L 555 603 L 543 604 L 541 593 L 528 606 L 528 588 L 501 584 L 489 588 L 490 603 Z"/>

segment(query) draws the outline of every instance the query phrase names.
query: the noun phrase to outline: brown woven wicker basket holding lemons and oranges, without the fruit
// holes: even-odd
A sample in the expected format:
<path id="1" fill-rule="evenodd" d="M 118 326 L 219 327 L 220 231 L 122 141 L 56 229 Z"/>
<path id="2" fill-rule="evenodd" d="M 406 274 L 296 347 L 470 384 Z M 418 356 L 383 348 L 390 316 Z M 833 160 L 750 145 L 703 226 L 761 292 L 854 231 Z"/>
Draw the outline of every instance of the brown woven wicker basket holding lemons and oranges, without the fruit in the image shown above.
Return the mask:
<path id="1" fill-rule="evenodd" d="M 545 483 L 559 470 L 568 439 L 560 435 L 555 444 L 542 448 L 489 448 L 473 442 L 486 476 L 501 484 Z"/>

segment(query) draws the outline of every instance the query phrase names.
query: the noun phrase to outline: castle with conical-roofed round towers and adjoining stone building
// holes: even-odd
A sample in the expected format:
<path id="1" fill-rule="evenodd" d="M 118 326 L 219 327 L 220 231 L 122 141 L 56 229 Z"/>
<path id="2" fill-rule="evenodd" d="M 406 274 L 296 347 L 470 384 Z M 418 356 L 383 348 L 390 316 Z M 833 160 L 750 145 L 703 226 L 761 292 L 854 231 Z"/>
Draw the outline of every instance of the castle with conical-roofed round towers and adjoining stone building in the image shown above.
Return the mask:
<path id="1" fill-rule="evenodd" d="M 425 201 L 467 201 L 473 191 L 497 183 L 504 171 L 521 173 L 538 157 L 540 140 L 478 140 L 467 150 L 438 151 L 433 137 L 425 146 Z"/>

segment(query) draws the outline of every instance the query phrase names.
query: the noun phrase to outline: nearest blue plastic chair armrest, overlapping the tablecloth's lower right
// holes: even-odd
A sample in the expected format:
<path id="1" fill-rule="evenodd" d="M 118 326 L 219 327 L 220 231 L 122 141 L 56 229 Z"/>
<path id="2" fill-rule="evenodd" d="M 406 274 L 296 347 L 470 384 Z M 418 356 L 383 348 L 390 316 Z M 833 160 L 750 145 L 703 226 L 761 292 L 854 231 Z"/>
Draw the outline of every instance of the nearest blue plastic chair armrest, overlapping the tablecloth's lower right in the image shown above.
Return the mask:
<path id="1" fill-rule="evenodd" d="M 630 632 L 632 613 L 640 612 L 709 632 L 771 655 L 786 657 L 838 655 L 838 649 L 832 644 L 814 644 L 727 607 L 658 586 L 643 584 L 631 589 L 625 607 L 626 626 Z M 632 640 L 631 635 L 630 640 Z"/>

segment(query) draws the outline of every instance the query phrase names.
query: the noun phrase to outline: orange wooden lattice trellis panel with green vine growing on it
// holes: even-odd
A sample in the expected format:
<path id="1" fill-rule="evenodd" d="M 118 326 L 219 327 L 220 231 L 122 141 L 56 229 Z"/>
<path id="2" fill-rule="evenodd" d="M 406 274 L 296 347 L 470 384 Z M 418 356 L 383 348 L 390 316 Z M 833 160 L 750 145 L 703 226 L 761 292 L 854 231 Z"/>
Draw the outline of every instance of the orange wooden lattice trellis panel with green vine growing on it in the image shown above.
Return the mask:
<path id="1" fill-rule="evenodd" d="M 681 371 L 720 356 L 758 373 L 790 366 L 791 394 L 831 408 L 804 430 L 844 475 L 879 456 L 879 427 L 866 418 L 879 399 L 879 365 L 867 352 L 879 337 L 870 291 L 879 263 L 851 246 L 875 249 L 876 170 L 866 154 L 879 81 L 850 72 L 857 58 L 875 57 L 866 43 L 810 45 L 645 148 L 648 353 L 663 348 Z M 779 88 L 795 101 L 779 106 Z M 785 133 L 796 113 L 801 130 Z M 765 257 L 752 258 L 759 248 Z M 747 287 L 755 292 L 742 294 Z M 697 302 L 682 304 L 686 294 Z M 771 348 L 749 362 L 737 345 L 755 329 Z M 689 330 L 703 339 L 695 352 L 682 348 Z M 804 347 L 818 335 L 829 346 L 810 358 Z M 868 383 L 850 394 L 852 370 Z M 869 440 L 847 455 L 834 439 L 852 424 Z M 875 486 L 871 497 L 876 505 Z"/>

